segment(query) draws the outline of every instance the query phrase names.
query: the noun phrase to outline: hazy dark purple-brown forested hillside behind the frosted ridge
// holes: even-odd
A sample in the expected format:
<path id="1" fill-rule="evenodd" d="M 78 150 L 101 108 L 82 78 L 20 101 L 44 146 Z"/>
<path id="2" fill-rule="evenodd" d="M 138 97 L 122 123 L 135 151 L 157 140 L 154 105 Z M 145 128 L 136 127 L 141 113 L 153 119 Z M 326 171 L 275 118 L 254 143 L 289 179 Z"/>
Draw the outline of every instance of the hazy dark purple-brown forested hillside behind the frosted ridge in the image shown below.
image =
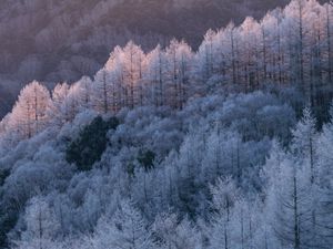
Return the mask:
<path id="1" fill-rule="evenodd" d="M 209 28 L 246 15 L 262 18 L 287 0 L 1 0 L 0 106 L 3 117 L 20 89 L 39 80 L 94 75 L 115 45 L 129 40 L 143 50 L 172 38 L 196 49 Z M 4 102 L 4 101 L 3 101 Z"/>

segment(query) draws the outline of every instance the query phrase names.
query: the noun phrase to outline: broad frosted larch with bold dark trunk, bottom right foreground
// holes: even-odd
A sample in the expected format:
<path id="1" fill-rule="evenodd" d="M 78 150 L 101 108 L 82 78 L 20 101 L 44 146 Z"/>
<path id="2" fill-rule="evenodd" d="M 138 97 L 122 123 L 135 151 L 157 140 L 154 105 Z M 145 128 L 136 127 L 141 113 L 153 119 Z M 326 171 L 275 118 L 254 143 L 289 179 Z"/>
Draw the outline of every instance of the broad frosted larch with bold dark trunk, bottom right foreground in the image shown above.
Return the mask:
<path id="1" fill-rule="evenodd" d="M 312 227 L 309 170 L 301 168 L 289 156 L 284 156 L 279 165 L 279 170 L 272 170 L 274 175 L 270 176 L 272 181 L 266 200 L 269 222 L 280 247 L 309 248 L 313 246 L 309 241 Z"/>

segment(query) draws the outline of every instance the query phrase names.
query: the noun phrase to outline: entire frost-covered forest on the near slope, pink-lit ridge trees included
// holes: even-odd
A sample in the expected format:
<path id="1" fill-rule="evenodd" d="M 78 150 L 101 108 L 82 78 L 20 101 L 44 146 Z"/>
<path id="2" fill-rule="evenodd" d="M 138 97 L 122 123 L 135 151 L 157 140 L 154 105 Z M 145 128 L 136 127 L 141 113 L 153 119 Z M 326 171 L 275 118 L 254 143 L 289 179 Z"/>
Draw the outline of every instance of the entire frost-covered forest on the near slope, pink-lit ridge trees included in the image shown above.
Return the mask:
<path id="1" fill-rule="evenodd" d="M 22 87 L 0 123 L 0 247 L 331 249 L 332 20 L 293 0 Z"/>

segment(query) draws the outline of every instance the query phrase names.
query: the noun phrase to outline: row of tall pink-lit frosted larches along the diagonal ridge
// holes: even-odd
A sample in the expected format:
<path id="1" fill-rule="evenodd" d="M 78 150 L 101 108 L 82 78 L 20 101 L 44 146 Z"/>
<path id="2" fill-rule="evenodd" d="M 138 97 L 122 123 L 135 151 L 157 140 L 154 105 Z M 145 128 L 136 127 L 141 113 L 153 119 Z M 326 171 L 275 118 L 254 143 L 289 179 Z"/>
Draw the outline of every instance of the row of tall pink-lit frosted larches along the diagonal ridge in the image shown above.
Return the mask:
<path id="1" fill-rule="evenodd" d="M 181 110 L 195 96 L 282 86 L 299 89 L 319 110 L 320 122 L 326 121 L 333 95 L 332 13 L 332 2 L 293 0 L 260 22 L 246 18 L 240 27 L 209 30 L 196 53 L 176 40 L 149 53 L 133 42 L 117 46 L 93 80 L 58 84 L 51 94 L 38 82 L 27 85 L 0 134 L 30 138 L 50 122 L 72 121 L 82 108 L 101 114 L 143 105 Z"/>

